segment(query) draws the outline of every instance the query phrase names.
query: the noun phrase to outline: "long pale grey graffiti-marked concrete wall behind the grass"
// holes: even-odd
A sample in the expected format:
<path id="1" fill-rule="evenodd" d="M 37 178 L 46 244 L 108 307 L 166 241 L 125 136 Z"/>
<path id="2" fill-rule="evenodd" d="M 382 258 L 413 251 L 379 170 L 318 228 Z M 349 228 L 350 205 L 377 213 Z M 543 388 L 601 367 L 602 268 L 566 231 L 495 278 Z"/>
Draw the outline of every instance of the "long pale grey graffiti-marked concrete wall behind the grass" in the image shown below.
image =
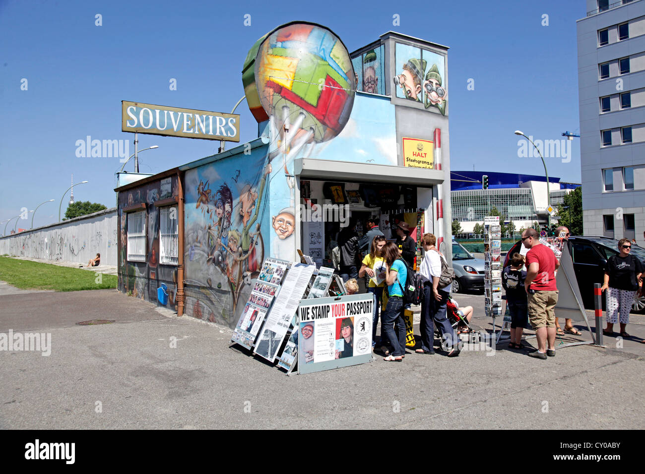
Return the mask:
<path id="1" fill-rule="evenodd" d="M 0 238 L 0 255 L 86 265 L 101 253 L 101 264 L 117 264 L 117 208 L 76 217 Z"/>

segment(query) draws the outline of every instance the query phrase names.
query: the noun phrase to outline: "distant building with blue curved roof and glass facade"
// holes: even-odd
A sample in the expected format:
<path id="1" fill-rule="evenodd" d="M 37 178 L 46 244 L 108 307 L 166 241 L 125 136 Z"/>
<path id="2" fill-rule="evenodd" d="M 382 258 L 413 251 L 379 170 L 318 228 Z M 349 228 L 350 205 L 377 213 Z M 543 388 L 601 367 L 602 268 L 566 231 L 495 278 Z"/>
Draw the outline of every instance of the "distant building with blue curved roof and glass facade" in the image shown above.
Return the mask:
<path id="1" fill-rule="evenodd" d="M 488 177 L 488 189 L 482 189 L 482 176 Z M 550 201 L 546 199 L 546 178 L 517 173 L 455 171 L 450 173 L 450 198 L 453 221 L 461 223 L 464 233 L 473 232 L 475 224 L 483 224 L 484 216 L 496 207 L 513 221 L 517 230 L 528 228 L 536 221 L 546 225 L 551 205 L 555 208 L 564 201 L 564 195 L 580 184 L 561 183 L 560 178 L 549 178 Z M 551 217 L 557 222 L 557 215 Z"/>

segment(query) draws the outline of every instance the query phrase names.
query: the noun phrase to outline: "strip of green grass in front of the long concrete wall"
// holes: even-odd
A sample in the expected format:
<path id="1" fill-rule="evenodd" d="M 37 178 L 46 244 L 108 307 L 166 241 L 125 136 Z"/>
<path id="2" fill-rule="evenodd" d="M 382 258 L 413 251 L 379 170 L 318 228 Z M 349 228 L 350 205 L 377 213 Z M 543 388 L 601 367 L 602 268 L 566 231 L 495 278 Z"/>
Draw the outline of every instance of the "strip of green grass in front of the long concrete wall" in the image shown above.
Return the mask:
<path id="1" fill-rule="evenodd" d="M 0 257 L 0 280 L 21 290 L 79 291 L 116 288 L 117 275 Z"/>

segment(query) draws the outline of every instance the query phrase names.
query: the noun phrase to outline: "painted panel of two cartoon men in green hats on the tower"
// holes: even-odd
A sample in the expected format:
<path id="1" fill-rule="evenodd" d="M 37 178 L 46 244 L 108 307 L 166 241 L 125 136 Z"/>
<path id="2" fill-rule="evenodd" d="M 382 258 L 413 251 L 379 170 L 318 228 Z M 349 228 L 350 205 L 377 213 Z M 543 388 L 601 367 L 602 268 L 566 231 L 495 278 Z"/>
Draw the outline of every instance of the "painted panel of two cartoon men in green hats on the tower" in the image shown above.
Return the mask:
<path id="1" fill-rule="evenodd" d="M 394 85 L 397 97 L 424 104 L 446 115 L 446 58 L 432 51 L 396 43 Z"/>

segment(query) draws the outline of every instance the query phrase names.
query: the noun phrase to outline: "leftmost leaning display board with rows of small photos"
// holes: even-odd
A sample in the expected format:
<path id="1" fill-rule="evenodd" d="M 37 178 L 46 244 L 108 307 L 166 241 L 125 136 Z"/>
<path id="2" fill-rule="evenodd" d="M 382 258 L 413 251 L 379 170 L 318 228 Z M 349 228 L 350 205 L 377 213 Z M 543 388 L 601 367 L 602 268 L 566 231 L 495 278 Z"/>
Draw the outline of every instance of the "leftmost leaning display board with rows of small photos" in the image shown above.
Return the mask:
<path id="1" fill-rule="evenodd" d="M 247 349 L 252 348 L 257 333 L 266 318 L 268 308 L 279 290 L 280 287 L 277 284 L 263 281 L 255 282 L 248 302 L 244 306 L 239 321 L 237 321 L 235 330 L 233 330 L 231 341 Z"/>

